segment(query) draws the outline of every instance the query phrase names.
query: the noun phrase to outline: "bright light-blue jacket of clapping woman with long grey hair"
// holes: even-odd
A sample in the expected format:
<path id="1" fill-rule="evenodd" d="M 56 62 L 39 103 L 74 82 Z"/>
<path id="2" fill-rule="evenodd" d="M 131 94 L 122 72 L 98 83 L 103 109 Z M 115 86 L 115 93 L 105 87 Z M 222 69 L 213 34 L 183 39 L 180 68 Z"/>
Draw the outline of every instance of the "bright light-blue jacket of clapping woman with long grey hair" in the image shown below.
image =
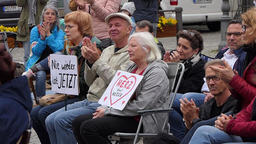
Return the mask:
<path id="1" fill-rule="evenodd" d="M 54 28 L 52 34 L 46 37 L 45 40 L 41 40 L 37 27 L 34 27 L 30 33 L 30 46 L 31 53 L 30 58 L 27 61 L 26 70 L 30 69 L 40 58 L 42 52 L 46 48 L 46 44 L 52 49 L 53 52 L 62 51 L 64 47 L 64 36 L 63 30 L 57 27 Z"/>

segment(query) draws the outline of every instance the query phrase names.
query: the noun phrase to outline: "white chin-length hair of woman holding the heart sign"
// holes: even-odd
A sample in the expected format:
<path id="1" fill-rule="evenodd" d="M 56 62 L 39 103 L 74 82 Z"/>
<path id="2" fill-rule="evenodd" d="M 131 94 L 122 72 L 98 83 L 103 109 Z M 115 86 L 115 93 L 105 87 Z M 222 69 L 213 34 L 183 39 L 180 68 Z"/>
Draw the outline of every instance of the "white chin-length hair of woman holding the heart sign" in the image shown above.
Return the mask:
<path id="1" fill-rule="evenodd" d="M 147 62 L 160 61 L 162 56 L 160 49 L 157 47 L 153 35 L 149 32 L 136 32 L 128 38 L 128 44 L 132 38 L 136 38 L 137 42 L 141 45 L 142 49 L 147 53 Z M 148 52 L 147 47 L 150 48 Z"/>

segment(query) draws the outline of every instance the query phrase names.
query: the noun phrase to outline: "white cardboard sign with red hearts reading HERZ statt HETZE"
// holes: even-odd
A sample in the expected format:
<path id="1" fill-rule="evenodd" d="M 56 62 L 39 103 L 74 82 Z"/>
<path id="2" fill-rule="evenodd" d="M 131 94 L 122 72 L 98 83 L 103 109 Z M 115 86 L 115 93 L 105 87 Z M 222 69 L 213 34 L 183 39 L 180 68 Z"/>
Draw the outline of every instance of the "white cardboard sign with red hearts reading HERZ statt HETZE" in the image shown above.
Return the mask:
<path id="1" fill-rule="evenodd" d="M 118 70 L 99 100 L 99 104 L 123 110 L 143 76 Z"/>

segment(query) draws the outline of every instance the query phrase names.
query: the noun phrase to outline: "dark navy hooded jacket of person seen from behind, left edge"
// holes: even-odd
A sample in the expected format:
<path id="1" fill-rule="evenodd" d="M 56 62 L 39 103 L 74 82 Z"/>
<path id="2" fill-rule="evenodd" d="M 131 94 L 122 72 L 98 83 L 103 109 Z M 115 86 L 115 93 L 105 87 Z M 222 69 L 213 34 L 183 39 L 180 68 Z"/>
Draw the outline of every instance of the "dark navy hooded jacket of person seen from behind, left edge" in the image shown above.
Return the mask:
<path id="1" fill-rule="evenodd" d="M 16 144 L 21 134 L 32 127 L 28 112 L 32 110 L 28 78 L 21 76 L 0 85 L 0 141 Z M 29 127 L 28 127 L 29 125 Z"/>

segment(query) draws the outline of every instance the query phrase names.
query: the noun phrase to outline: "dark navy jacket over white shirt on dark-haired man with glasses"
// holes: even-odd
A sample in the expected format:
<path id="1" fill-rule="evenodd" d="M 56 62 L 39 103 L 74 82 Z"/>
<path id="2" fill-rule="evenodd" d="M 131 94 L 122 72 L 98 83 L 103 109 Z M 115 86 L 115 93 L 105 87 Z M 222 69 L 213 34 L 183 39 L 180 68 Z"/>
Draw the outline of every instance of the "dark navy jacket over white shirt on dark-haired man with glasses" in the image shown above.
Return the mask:
<path id="1" fill-rule="evenodd" d="M 219 52 L 217 53 L 214 59 L 221 59 L 228 49 L 228 46 L 220 48 Z M 236 60 L 233 69 L 235 69 L 241 76 L 244 59 L 246 57 L 246 52 L 243 51 L 242 48 L 240 47 L 239 49 L 234 50 L 234 54 L 238 57 L 238 59 Z"/>

